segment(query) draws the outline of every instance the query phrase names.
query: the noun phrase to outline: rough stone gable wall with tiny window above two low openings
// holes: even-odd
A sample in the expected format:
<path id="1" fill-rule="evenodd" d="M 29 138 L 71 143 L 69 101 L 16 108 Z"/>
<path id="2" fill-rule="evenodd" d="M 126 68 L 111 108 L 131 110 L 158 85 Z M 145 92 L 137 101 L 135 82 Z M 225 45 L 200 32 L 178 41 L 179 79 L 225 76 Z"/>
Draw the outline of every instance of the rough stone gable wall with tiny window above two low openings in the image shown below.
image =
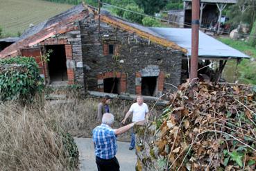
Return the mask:
<path id="1" fill-rule="evenodd" d="M 97 78 L 97 75 L 114 72 L 126 74 L 126 93 L 137 93 L 137 72 L 162 72 L 162 81 L 176 86 L 180 84 L 180 51 L 152 43 L 148 39 L 103 22 L 99 36 L 98 26 L 98 20 L 92 18 L 80 23 L 85 85 L 88 90 L 99 91 L 102 88 L 98 82 L 102 78 Z M 108 54 L 108 44 L 114 45 L 113 54 Z M 164 84 L 163 90 L 166 89 L 173 87 Z"/>

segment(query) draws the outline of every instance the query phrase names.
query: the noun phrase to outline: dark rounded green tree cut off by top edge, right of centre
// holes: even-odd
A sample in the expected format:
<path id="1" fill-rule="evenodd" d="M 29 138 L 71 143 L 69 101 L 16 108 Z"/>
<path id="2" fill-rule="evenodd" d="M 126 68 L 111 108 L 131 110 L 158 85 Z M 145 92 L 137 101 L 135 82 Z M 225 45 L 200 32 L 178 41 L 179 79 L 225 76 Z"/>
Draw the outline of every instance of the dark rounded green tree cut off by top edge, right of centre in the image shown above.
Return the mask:
<path id="1" fill-rule="evenodd" d="M 135 0 L 137 5 L 144 9 L 148 15 L 154 15 L 155 12 L 160 12 L 166 6 L 168 0 Z"/>

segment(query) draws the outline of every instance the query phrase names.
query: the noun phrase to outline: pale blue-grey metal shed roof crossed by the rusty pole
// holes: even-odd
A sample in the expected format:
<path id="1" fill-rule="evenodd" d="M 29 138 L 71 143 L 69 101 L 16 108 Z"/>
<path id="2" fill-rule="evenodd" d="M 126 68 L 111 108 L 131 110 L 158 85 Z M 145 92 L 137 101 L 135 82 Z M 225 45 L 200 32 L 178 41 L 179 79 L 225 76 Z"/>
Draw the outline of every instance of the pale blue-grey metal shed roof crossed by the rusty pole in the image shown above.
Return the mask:
<path id="1" fill-rule="evenodd" d="M 171 42 L 175 42 L 178 46 L 186 48 L 188 53 L 191 55 L 191 28 L 149 28 L 155 33 L 162 35 L 165 39 Z M 199 31 L 199 57 L 245 57 L 249 58 L 248 55 L 237 51 L 236 49 L 223 44 L 217 39 L 206 35 Z"/>

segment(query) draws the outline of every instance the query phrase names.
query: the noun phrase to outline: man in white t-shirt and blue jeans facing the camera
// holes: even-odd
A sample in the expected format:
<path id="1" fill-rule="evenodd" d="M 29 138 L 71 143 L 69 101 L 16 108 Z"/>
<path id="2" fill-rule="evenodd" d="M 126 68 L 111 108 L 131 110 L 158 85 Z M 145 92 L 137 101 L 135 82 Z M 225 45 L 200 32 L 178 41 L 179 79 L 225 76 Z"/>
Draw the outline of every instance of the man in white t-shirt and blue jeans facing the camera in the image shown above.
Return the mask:
<path id="1" fill-rule="evenodd" d="M 126 116 L 124 119 L 121 121 L 121 123 L 125 124 L 126 119 L 130 116 L 130 114 L 133 113 L 133 122 L 139 122 L 145 120 L 145 117 L 148 118 L 148 105 L 143 102 L 143 97 L 142 96 L 137 96 L 137 102 L 133 103 L 131 105 L 129 111 L 126 113 Z M 135 147 L 135 134 L 132 131 L 132 139 L 130 141 L 130 147 L 129 150 L 133 150 Z"/>

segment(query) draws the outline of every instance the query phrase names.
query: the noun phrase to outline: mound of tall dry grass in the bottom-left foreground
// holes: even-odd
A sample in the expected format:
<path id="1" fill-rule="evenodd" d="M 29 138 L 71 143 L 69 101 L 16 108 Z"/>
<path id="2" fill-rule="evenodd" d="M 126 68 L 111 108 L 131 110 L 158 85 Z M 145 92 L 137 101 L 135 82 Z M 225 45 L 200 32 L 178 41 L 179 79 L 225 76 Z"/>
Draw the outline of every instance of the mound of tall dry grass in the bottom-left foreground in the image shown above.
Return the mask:
<path id="1" fill-rule="evenodd" d="M 39 106 L 0 105 L 0 170 L 69 170 L 62 130 L 49 124 L 52 117 Z"/>

